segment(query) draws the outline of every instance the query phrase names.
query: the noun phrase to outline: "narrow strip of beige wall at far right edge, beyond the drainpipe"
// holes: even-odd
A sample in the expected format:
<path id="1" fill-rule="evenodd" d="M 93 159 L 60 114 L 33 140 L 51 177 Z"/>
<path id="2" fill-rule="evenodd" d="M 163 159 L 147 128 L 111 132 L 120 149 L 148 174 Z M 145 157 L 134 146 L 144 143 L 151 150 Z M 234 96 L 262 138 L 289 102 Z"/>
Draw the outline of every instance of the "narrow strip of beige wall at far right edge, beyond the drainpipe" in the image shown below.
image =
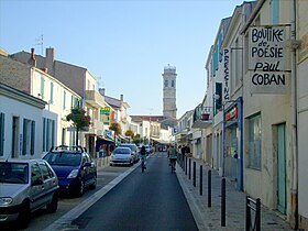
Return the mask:
<path id="1" fill-rule="evenodd" d="M 308 229 L 308 2 L 297 1 L 297 40 L 301 40 L 298 51 L 298 213 L 299 228 Z"/>

